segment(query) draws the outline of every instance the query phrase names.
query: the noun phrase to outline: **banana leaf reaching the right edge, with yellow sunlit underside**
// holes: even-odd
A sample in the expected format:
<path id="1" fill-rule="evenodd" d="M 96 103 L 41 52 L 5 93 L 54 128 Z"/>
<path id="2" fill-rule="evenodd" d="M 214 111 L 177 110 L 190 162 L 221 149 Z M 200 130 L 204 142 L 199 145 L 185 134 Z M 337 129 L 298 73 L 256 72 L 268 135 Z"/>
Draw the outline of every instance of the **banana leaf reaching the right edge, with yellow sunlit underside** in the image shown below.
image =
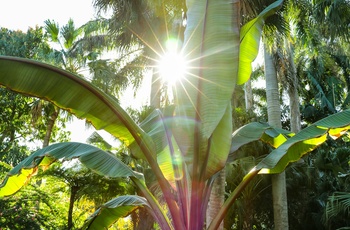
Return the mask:
<path id="1" fill-rule="evenodd" d="M 291 162 L 314 150 L 327 140 L 337 138 L 350 129 L 350 110 L 333 114 L 303 129 L 273 150 L 257 166 L 260 173 L 280 173 Z"/>

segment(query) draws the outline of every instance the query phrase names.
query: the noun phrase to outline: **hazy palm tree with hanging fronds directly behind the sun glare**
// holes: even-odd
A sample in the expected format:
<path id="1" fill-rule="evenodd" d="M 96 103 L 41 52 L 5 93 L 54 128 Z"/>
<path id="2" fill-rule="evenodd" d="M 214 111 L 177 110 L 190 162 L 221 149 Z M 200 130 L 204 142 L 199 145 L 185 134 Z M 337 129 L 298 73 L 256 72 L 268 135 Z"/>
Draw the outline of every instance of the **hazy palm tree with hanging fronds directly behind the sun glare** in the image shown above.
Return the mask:
<path id="1" fill-rule="evenodd" d="M 148 61 L 136 67 L 152 70 L 150 103 L 154 108 L 160 108 L 162 82 L 156 66 L 165 52 L 165 42 L 171 36 L 182 37 L 181 14 L 185 1 L 95 0 L 94 5 L 99 11 L 112 10 L 107 21 L 119 50 L 141 47 L 140 58 Z"/>

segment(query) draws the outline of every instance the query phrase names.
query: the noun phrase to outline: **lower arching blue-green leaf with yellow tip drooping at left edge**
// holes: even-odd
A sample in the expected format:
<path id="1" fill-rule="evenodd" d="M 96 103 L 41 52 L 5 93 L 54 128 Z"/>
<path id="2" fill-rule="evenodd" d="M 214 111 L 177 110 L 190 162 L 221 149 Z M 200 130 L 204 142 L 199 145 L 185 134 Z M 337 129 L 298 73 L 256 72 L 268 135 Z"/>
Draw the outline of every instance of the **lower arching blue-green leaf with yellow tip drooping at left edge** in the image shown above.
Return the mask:
<path id="1" fill-rule="evenodd" d="M 87 168 L 107 177 L 136 177 L 141 174 L 132 171 L 114 155 L 91 145 L 66 142 L 50 145 L 34 152 L 14 167 L 0 185 L 0 197 L 17 192 L 39 168 L 46 169 L 57 160 L 78 158 Z"/>

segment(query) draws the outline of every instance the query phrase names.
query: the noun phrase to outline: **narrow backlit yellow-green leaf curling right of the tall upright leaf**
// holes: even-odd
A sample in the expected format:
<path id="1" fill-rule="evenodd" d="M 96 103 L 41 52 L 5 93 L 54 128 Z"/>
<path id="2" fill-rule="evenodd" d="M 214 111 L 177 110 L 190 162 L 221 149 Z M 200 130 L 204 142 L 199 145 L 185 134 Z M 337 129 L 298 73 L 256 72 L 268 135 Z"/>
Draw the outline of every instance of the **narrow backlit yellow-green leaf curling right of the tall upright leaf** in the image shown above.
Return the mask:
<path id="1" fill-rule="evenodd" d="M 278 0 L 265 8 L 256 18 L 241 28 L 241 46 L 239 52 L 239 69 L 237 84 L 241 85 L 248 81 L 252 73 L 251 64 L 258 56 L 261 32 L 265 20 L 273 15 L 283 4 Z"/>

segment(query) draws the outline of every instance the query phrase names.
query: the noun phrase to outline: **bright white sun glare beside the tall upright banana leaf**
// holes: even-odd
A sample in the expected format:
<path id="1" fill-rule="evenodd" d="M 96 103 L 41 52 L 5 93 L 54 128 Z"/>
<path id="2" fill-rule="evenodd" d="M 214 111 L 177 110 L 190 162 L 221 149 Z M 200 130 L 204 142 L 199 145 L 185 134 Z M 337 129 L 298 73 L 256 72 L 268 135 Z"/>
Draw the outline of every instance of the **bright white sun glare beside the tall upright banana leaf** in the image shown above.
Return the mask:
<path id="1" fill-rule="evenodd" d="M 173 85 L 186 73 L 186 61 L 181 52 L 178 52 L 178 47 L 177 40 L 169 39 L 166 43 L 166 52 L 158 63 L 160 77 L 168 85 Z"/>

